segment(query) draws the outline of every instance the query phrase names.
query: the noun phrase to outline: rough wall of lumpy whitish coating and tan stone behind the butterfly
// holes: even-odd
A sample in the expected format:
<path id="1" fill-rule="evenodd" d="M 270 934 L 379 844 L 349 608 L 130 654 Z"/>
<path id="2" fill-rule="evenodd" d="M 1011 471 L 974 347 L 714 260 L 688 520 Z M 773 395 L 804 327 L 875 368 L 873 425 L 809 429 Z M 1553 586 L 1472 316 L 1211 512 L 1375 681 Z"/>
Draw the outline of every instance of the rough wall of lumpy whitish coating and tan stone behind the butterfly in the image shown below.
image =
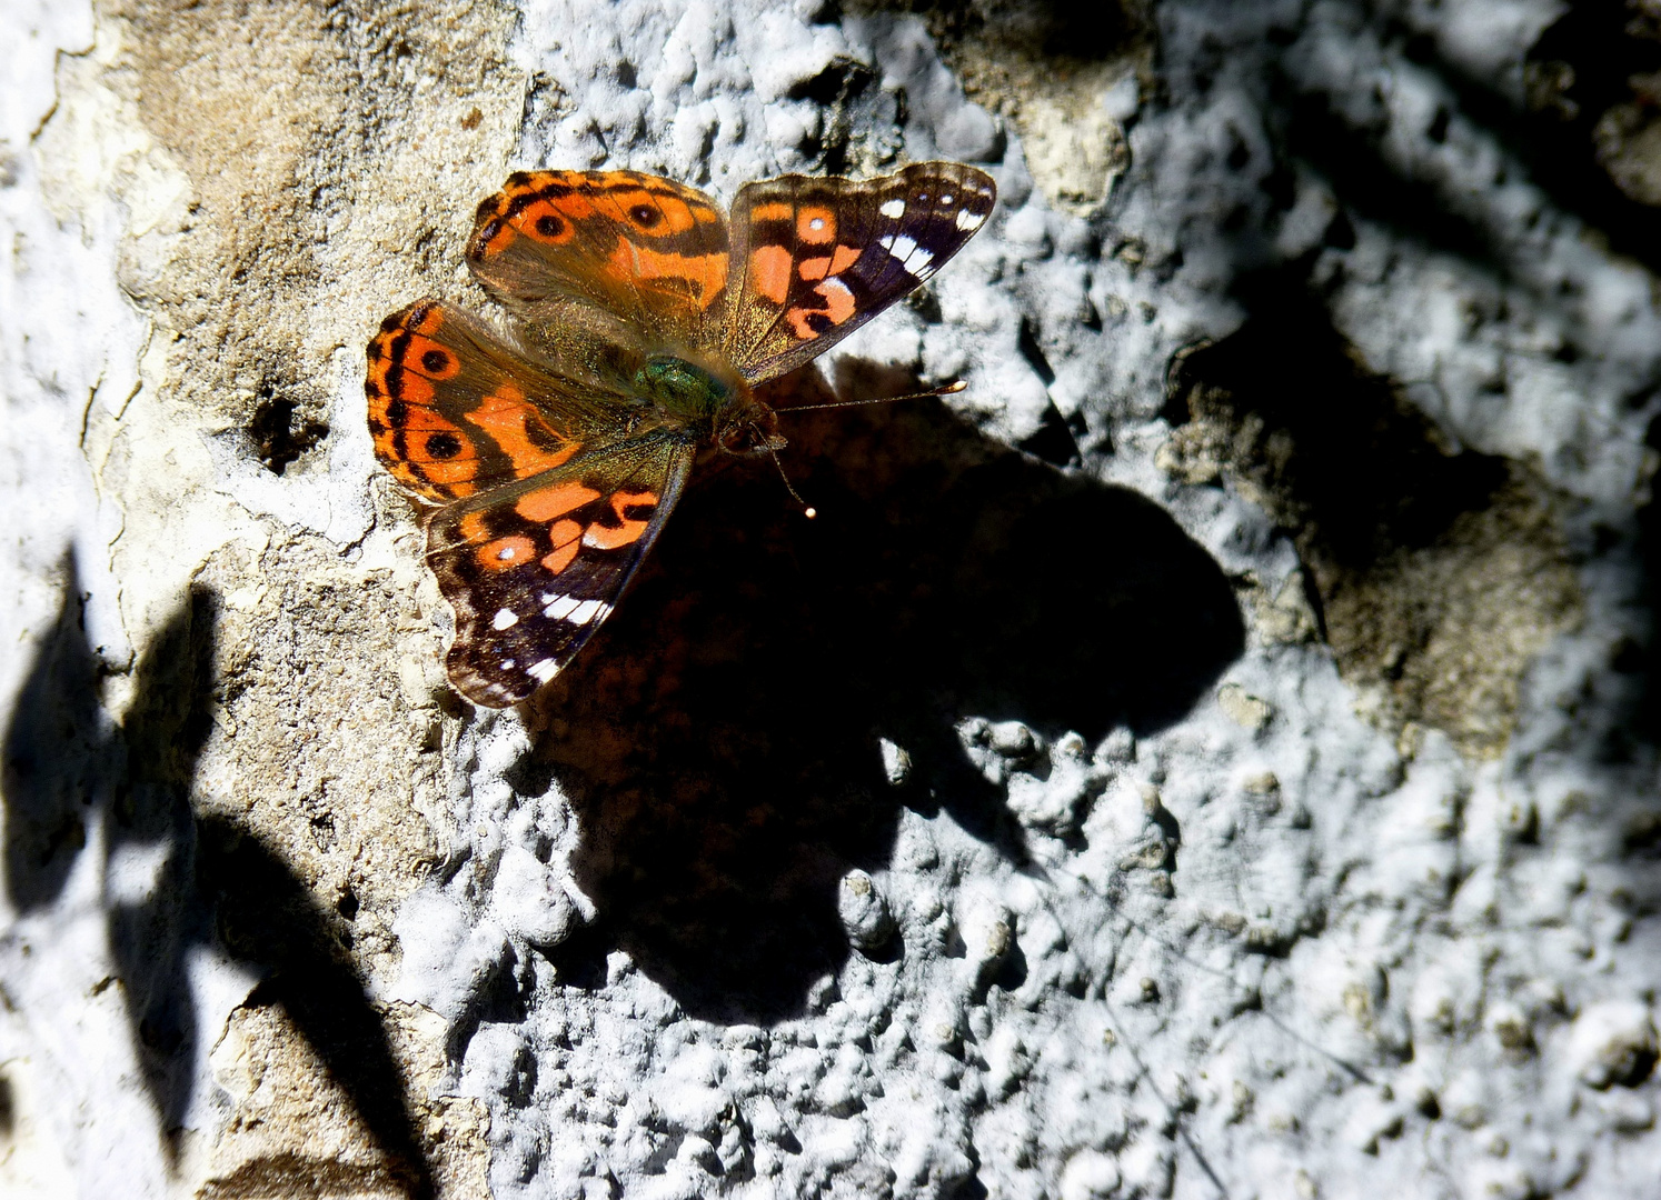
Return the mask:
<path id="1" fill-rule="evenodd" d="M 1644 3 L 0 7 L 5 1197 L 1656 1192 Z M 1000 207 L 543 695 L 364 344 L 517 168 Z"/>

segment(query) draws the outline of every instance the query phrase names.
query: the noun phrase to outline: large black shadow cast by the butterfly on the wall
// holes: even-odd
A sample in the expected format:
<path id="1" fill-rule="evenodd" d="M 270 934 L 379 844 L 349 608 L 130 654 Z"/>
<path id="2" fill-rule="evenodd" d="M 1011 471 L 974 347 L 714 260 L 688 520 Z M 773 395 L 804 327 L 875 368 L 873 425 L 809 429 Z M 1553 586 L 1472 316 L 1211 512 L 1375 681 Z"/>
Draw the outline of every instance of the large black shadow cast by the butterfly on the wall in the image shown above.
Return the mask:
<path id="1" fill-rule="evenodd" d="M 822 390 L 792 387 L 781 408 Z M 688 1012 L 733 1022 L 787 1019 L 839 969 L 839 880 L 887 865 L 902 807 L 1026 861 L 965 719 L 1148 734 L 1244 647 L 1222 571 L 1133 491 L 937 400 L 781 425 L 817 520 L 766 458 L 699 463 L 616 616 L 530 707 L 520 765 L 527 790 L 551 777 L 571 800 L 600 910 L 553 951 L 561 978 L 601 979 L 621 948 Z M 879 739 L 912 763 L 899 785 Z"/>

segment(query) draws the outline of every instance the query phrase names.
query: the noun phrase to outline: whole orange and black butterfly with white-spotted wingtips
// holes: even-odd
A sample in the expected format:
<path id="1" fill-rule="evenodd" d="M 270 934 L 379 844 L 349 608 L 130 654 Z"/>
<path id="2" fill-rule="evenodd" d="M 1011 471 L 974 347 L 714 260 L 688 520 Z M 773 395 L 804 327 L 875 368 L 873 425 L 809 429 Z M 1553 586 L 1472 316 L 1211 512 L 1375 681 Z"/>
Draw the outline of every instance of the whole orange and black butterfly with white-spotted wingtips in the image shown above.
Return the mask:
<path id="1" fill-rule="evenodd" d="M 455 609 L 450 682 L 532 695 L 613 611 L 701 446 L 784 445 L 752 388 L 804 365 L 950 259 L 992 214 L 985 171 L 701 191 L 633 171 L 520 171 L 467 264 L 512 337 L 424 299 L 369 342 L 375 456 L 427 515 Z"/>

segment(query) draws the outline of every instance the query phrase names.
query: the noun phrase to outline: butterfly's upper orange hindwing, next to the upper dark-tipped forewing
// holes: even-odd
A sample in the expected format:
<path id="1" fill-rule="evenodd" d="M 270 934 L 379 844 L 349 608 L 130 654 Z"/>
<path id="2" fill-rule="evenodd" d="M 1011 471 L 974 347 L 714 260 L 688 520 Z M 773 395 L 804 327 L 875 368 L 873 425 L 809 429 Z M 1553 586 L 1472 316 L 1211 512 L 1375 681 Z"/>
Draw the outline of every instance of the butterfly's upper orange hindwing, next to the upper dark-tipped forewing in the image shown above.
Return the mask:
<path id="1" fill-rule="evenodd" d="M 518 171 L 478 206 L 467 262 L 500 300 L 545 322 L 576 300 L 659 344 L 719 345 L 726 329 L 726 219 L 671 179 Z"/>

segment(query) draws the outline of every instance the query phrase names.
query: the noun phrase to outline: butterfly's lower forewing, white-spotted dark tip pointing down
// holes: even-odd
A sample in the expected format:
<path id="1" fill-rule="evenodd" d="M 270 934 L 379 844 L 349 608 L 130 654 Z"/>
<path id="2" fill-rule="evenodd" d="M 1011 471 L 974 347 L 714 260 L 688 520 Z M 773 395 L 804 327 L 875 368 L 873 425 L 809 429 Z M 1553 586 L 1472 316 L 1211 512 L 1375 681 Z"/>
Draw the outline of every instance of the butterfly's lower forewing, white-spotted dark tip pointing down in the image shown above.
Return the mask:
<path id="1" fill-rule="evenodd" d="M 570 662 L 656 541 L 691 461 L 689 443 L 649 433 L 435 513 L 427 563 L 455 609 L 457 690 L 498 709 Z"/>

